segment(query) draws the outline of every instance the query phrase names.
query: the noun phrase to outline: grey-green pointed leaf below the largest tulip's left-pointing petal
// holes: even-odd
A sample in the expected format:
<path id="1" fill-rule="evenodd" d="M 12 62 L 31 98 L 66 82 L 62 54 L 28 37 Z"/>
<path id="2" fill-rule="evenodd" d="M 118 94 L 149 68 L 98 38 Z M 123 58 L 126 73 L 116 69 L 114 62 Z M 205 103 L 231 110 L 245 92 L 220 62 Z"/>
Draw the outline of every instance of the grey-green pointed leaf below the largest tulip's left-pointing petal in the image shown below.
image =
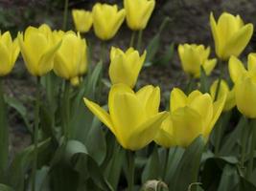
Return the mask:
<path id="1" fill-rule="evenodd" d="M 102 164 L 106 155 L 106 142 L 101 121 L 93 117 L 91 128 L 86 138 L 86 147 L 89 154 L 98 164 Z"/>

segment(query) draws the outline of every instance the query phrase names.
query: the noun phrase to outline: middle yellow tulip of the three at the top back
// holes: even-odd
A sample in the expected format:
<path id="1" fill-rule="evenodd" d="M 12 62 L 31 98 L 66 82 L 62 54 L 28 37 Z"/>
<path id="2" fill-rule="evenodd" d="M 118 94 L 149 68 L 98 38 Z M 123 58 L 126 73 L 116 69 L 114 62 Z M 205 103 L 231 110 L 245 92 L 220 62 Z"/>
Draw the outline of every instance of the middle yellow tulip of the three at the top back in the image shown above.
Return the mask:
<path id="1" fill-rule="evenodd" d="M 94 32 L 102 40 L 109 40 L 119 30 L 125 16 L 126 11 L 118 11 L 117 5 L 95 4 L 92 10 Z"/>

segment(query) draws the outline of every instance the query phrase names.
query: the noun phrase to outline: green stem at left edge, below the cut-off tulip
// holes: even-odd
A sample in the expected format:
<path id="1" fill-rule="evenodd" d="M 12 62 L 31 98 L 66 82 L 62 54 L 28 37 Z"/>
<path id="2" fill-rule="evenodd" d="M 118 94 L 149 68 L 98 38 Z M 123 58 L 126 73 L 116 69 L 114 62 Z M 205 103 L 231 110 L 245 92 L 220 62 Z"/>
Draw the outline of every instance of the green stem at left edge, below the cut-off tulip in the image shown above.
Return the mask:
<path id="1" fill-rule="evenodd" d="M 8 165 L 9 128 L 7 124 L 7 107 L 4 99 L 3 79 L 0 78 L 0 182 Z"/>

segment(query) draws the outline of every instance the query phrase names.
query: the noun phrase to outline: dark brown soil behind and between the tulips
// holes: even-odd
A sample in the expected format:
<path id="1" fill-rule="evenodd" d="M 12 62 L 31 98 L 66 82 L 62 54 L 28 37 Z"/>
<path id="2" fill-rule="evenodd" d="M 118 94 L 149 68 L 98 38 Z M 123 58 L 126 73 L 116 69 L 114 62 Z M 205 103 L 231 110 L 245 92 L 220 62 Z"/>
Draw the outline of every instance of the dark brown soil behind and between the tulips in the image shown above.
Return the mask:
<path id="1" fill-rule="evenodd" d="M 93 4 L 99 1 L 70 0 L 69 9 L 91 10 Z M 123 1 L 101 1 L 117 3 L 122 6 Z M 62 11 L 64 0 L 0 0 L 0 29 L 1 32 L 11 31 L 15 36 L 18 31 L 23 31 L 27 26 L 38 26 L 42 23 L 49 24 L 53 29 L 61 29 Z M 209 26 L 209 15 L 213 11 L 216 18 L 222 11 L 240 14 L 244 23 L 256 24 L 256 0 L 156 0 L 156 9 L 151 21 L 144 32 L 143 47 L 146 48 L 154 34 L 158 31 L 161 22 L 166 16 L 171 21 L 162 32 L 161 47 L 158 56 L 172 43 L 175 48 L 179 43 L 197 43 L 210 45 L 212 57 L 214 54 L 213 39 Z M 72 17 L 69 12 L 68 28 L 74 30 Z M 93 60 L 97 62 L 100 54 L 100 41 L 93 32 L 86 34 L 93 46 Z M 128 48 L 130 31 L 124 23 L 115 38 L 108 42 L 107 49 L 111 46 Z M 253 43 L 244 52 L 252 52 Z M 245 56 L 244 56 L 245 57 Z M 106 63 L 108 64 L 108 63 Z M 215 73 L 218 73 L 215 72 Z M 107 74 L 105 74 L 107 77 Z M 174 86 L 186 83 L 186 76 L 181 72 L 176 51 L 172 61 L 165 66 L 153 65 L 144 68 L 140 74 L 139 84 L 154 84 L 161 87 L 162 94 L 167 97 Z M 5 77 L 5 88 L 10 96 L 26 103 L 29 111 L 33 111 L 33 97 L 35 92 L 35 79 L 27 73 L 21 56 L 19 57 L 12 74 Z M 12 109 L 9 112 L 11 124 L 12 151 L 17 152 L 31 141 L 23 119 Z M 28 114 L 33 117 L 33 114 Z"/>

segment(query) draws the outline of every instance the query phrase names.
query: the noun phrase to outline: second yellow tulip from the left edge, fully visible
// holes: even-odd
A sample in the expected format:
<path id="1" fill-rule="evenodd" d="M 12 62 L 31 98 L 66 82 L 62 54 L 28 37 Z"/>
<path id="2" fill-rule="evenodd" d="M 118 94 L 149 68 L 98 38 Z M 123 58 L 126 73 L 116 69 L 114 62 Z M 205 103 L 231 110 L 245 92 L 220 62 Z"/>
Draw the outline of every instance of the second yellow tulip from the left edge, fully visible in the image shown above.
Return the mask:
<path id="1" fill-rule="evenodd" d="M 41 76 L 53 69 L 54 56 L 60 42 L 54 43 L 49 26 L 44 24 L 39 28 L 28 27 L 24 37 L 21 33 L 18 34 L 18 42 L 25 65 L 31 74 Z"/>

